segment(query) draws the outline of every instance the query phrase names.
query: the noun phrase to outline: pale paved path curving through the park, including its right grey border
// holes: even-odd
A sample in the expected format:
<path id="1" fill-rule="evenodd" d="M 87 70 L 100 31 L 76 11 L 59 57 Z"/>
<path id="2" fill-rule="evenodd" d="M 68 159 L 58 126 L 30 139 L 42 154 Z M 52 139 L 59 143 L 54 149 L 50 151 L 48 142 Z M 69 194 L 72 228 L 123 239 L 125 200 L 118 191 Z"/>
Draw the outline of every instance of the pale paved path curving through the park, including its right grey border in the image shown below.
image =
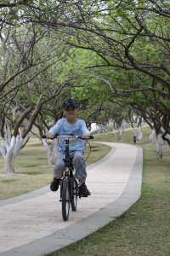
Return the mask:
<path id="1" fill-rule="evenodd" d="M 107 224 L 139 199 L 142 149 L 105 143 L 111 152 L 88 167 L 92 196 L 63 222 L 59 195 L 47 192 L 0 204 L 0 256 L 40 256 L 77 241 Z"/>

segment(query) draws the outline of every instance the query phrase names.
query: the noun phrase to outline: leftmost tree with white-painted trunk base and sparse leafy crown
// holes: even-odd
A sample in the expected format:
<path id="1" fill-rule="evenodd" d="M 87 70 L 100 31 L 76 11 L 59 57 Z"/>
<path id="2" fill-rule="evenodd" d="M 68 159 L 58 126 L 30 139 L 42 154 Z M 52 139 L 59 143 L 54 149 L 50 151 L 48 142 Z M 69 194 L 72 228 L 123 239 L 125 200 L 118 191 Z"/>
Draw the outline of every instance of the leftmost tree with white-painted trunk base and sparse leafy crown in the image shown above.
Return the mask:
<path id="1" fill-rule="evenodd" d="M 13 175 L 14 157 L 26 145 L 43 106 L 53 99 L 57 101 L 60 92 L 71 86 L 71 77 L 62 83 L 52 78 L 52 70 L 55 76 L 59 73 L 61 60 L 64 61 L 69 48 L 59 45 L 53 38 L 47 45 L 47 38 L 46 31 L 33 25 L 3 26 L 1 31 L 0 128 L 3 144 L 0 152 L 8 176 Z"/>

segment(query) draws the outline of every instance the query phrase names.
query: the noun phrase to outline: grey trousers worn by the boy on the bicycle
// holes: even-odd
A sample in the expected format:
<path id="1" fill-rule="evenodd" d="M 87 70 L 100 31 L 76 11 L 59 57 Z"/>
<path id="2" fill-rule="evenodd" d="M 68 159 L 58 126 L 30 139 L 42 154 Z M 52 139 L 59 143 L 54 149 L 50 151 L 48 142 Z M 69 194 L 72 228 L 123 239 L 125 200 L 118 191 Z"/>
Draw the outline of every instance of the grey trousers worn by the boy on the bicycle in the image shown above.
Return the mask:
<path id="1" fill-rule="evenodd" d="M 80 184 L 85 183 L 87 172 L 86 172 L 86 163 L 84 160 L 83 152 L 82 151 L 71 151 L 70 156 L 72 159 L 72 163 L 75 168 L 75 175 Z M 54 166 L 54 177 L 61 178 L 63 176 L 63 171 L 65 170 L 65 162 L 64 162 L 65 155 L 62 151 L 59 151 L 57 163 Z"/>

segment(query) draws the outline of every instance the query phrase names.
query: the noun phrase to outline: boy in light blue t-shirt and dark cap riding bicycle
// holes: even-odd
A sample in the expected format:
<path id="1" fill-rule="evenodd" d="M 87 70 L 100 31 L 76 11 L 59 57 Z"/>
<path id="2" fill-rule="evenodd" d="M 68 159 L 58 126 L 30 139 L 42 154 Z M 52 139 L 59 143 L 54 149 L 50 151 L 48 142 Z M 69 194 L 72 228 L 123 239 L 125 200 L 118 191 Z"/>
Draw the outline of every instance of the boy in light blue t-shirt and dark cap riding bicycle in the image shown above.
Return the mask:
<path id="1" fill-rule="evenodd" d="M 64 103 L 64 115 L 65 118 L 59 119 L 54 126 L 52 126 L 47 132 L 47 137 L 54 137 L 58 135 L 75 135 L 89 137 L 90 132 L 86 126 L 86 123 L 82 119 L 77 119 L 78 103 L 75 100 L 69 99 Z M 60 179 L 65 170 L 64 162 L 65 154 L 65 140 L 61 140 L 59 143 L 59 154 L 56 165 L 54 166 L 54 179 L 50 184 L 52 191 L 59 189 Z M 86 164 L 84 160 L 84 141 L 77 139 L 70 146 L 70 156 L 72 163 L 75 167 L 75 177 L 79 181 L 79 196 L 87 197 L 90 192 L 86 186 Z"/>

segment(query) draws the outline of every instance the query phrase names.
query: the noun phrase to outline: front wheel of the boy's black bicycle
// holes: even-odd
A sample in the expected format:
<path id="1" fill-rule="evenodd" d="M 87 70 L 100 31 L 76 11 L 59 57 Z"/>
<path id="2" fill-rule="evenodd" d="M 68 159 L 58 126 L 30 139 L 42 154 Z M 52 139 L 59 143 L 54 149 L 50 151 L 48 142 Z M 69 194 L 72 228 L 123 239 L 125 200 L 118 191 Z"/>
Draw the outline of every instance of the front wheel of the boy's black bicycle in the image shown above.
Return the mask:
<path id="1" fill-rule="evenodd" d="M 63 219 L 66 221 L 69 218 L 69 212 L 70 212 L 70 188 L 69 188 L 69 182 L 68 180 L 64 180 L 62 183 L 62 216 Z"/>

